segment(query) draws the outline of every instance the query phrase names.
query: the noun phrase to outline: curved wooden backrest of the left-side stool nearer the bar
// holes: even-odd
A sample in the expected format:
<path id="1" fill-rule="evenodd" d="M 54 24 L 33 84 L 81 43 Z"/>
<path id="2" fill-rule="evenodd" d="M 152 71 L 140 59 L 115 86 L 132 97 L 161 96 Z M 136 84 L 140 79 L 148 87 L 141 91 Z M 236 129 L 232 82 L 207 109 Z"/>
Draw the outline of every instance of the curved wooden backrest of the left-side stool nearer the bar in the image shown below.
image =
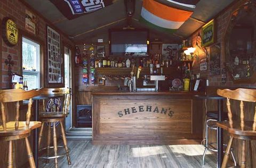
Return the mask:
<path id="1" fill-rule="evenodd" d="M 53 98 L 50 98 L 50 111 L 51 112 L 62 112 L 63 114 L 67 114 L 69 112 L 69 104 L 70 104 L 70 91 L 69 88 L 42 88 L 41 95 L 43 96 L 51 96 L 51 97 L 59 97 L 63 96 L 63 106 L 62 111 L 60 110 L 60 99 L 58 100 L 57 108 L 53 109 Z M 43 99 L 43 111 L 45 112 L 45 100 Z"/>

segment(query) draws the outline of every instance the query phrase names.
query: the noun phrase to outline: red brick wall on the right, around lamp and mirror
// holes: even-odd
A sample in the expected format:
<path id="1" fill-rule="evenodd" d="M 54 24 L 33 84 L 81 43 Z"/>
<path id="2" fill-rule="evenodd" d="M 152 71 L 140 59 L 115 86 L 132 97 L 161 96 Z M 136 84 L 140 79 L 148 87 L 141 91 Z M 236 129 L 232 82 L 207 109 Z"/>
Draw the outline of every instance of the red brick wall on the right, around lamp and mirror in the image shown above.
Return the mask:
<path id="1" fill-rule="evenodd" d="M 216 43 L 220 43 L 221 44 L 221 70 L 224 68 L 224 55 L 223 53 L 223 37 L 225 35 L 225 30 L 226 27 L 228 26 L 229 23 L 229 17 L 231 15 L 231 12 L 233 11 L 233 7 L 237 5 L 234 4 L 233 6 L 230 6 L 227 10 L 223 11 L 219 16 L 217 16 L 217 18 L 215 18 L 215 21 L 217 21 L 217 38 L 216 38 Z M 203 53 L 203 51 L 201 49 L 199 49 L 196 46 L 196 38 L 198 35 L 198 32 L 200 32 L 201 36 L 202 36 L 202 29 L 196 31 L 193 33 L 193 35 L 191 35 L 191 41 L 194 47 L 196 47 L 196 54 L 199 53 L 199 58 L 195 58 L 195 65 L 194 65 L 194 72 L 195 73 L 200 73 L 201 77 L 207 78 L 209 79 L 209 85 L 210 86 L 221 86 L 221 87 L 255 87 L 256 83 L 253 84 L 236 84 L 232 81 L 232 79 L 230 78 L 229 73 L 227 72 L 227 82 L 226 83 L 222 83 L 221 82 L 221 74 L 217 75 L 217 76 L 213 76 L 211 77 L 209 75 L 209 70 L 207 71 L 200 71 L 200 66 L 199 66 L 199 60 L 203 57 L 205 57 L 205 54 Z M 210 46 L 206 47 L 207 51 L 210 53 Z M 209 69 L 209 61 L 208 61 L 208 69 Z"/>

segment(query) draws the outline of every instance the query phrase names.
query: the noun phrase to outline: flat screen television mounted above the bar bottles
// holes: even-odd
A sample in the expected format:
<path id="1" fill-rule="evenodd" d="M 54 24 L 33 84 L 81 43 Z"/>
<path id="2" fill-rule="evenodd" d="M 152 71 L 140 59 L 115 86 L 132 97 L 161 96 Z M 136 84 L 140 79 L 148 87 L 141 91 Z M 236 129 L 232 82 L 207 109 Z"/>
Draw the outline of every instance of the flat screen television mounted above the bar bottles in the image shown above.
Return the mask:
<path id="1" fill-rule="evenodd" d="M 113 56 L 147 56 L 148 30 L 111 29 L 109 31 L 110 55 Z"/>

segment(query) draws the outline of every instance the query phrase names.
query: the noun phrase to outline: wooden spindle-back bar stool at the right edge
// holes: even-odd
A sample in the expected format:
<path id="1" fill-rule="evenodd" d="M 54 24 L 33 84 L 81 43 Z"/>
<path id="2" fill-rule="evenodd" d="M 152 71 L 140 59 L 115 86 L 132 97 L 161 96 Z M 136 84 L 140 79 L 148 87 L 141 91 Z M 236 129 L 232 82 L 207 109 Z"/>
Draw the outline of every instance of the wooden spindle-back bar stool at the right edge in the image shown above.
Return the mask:
<path id="1" fill-rule="evenodd" d="M 227 162 L 230 155 L 230 150 L 234 138 L 242 140 L 242 157 L 240 167 L 246 167 L 246 141 L 249 145 L 249 154 L 251 157 L 252 166 L 252 155 L 251 155 L 251 140 L 256 140 L 256 111 L 254 111 L 254 121 L 244 120 L 244 102 L 256 102 L 256 90 L 255 89 L 236 89 L 229 90 L 223 89 L 217 90 L 217 94 L 227 98 L 227 109 L 229 121 L 217 122 L 218 127 L 228 131 L 230 139 L 226 149 L 225 156 L 221 167 L 227 167 Z M 240 121 L 233 121 L 230 99 L 240 101 Z M 256 106 L 255 106 L 256 110 Z M 252 166 L 253 167 L 253 166 Z"/>

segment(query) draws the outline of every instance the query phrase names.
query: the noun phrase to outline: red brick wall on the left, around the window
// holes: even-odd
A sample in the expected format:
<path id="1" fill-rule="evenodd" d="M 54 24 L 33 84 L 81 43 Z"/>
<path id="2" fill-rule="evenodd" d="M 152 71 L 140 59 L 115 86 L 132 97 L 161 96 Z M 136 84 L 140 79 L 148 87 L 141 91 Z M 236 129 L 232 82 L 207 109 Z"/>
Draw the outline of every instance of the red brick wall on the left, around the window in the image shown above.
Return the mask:
<path id="1" fill-rule="evenodd" d="M 20 30 L 20 35 L 21 35 L 21 30 L 26 31 L 25 30 L 25 11 L 26 11 L 26 9 L 31 11 L 31 9 L 28 9 L 28 7 L 26 5 L 24 5 L 23 3 L 21 3 L 18 0 L 1 0 L 0 1 L 0 20 L 2 20 L 6 16 L 11 17 L 18 24 L 18 28 Z M 31 11 L 31 12 L 33 12 L 33 11 Z M 37 14 L 35 12 L 33 12 L 33 13 L 36 14 L 39 19 L 39 32 L 35 36 L 31 35 L 31 37 L 35 37 L 35 39 L 41 40 L 43 42 L 43 44 L 45 45 L 46 44 L 46 24 L 50 25 L 52 28 L 54 28 L 54 27 L 52 26 L 51 23 L 49 23 L 45 19 L 43 19 L 40 14 Z M 59 32 L 59 33 L 61 35 L 62 41 L 65 41 L 65 43 L 70 44 L 71 46 L 74 46 L 72 41 L 70 41 L 68 38 L 66 38 L 66 36 L 64 36 L 61 32 Z M 35 39 L 33 38 L 33 40 L 35 40 Z M 21 40 L 14 47 L 7 46 L 4 43 L 2 37 L 1 37 L 1 41 L 2 41 L 2 46 L 0 46 L 0 47 L 2 47 L 2 53 L 0 52 L 0 57 L 2 54 L 2 88 L 9 88 L 10 87 L 10 78 L 7 74 L 8 66 L 5 65 L 4 61 L 7 58 L 7 56 L 9 54 L 11 54 L 12 59 L 14 61 L 14 66 L 12 68 L 12 72 L 21 73 L 21 71 L 22 71 L 22 68 L 21 68 L 22 67 L 22 62 L 21 62 L 22 53 L 21 53 L 21 49 L 20 49 L 21 48 Z M 0 45 L 1 45 L 1 43 L 0 43 Z M 47 53 L 46 48 L 44 48 L 44 50 L 45 50 L 44 53 Z M 0 51 L 1 51 L 1 48 L 0 48 Z M 44 65 L 44 66 L 46 66 L 46 65 Z M 45 77 L 46 77 L 46 75 L 45 75 Z M 46 82 L 46 80 L 44 80 L 44 81 L 45 81 L 44 86 L 47 87 L 47 82 Z M 54 86 L 54 87 L 57 87 L 57 86 Z"/>

